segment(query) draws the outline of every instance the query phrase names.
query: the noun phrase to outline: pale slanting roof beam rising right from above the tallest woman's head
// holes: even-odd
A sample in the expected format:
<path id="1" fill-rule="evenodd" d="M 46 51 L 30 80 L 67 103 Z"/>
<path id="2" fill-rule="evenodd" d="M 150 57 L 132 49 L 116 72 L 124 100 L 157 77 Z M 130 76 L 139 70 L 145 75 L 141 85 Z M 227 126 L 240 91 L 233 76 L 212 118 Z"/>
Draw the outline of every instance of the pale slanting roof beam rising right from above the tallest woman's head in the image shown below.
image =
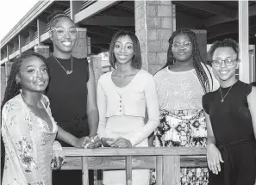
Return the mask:
<path id="1" fill-rule="evenodd" d="M 96 15 L 97 13 L 103 11 L 104 9 L 108 9 L 110 6 L 118 3 L 118 0 L 99 0 L 96 3 L 91 4 L 91 6 L 83 9 L 78 14 L 74 16 L 74 22 L 77 24 L 82 22 L 83 20 L 89 19 L 91 16 Z"/>

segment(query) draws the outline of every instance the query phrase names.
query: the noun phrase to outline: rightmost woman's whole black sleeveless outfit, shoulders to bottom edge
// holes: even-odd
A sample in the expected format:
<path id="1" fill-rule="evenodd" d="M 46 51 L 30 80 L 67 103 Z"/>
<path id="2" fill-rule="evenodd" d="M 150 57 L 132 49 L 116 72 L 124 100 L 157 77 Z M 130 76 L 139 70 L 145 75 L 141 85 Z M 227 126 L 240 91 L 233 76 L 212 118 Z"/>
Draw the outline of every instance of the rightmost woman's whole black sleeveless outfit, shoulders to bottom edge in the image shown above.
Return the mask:
<path id="1" fill-rule="evenodd" d="M 216 147 L 224 163 L 218 175 L 209 173 L 210 185 L 254 185 L 256 143 L 247 96 L 252 86 L 237 81 L 232 89 L 222 88 L 203 96 L 203 108 L 211 121 Z"/>

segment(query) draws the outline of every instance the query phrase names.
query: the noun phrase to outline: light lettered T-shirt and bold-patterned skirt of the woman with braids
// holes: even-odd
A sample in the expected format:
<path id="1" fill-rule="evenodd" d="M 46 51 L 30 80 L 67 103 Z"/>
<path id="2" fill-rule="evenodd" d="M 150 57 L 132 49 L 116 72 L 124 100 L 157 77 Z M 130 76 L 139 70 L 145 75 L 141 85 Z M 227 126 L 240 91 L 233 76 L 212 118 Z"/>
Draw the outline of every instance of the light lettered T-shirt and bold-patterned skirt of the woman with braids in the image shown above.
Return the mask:
<path id="1" fill-rule="evenodd" d="M 217 89 L 211 67 L 203 65 L 209 78 L 209 88 Z M 211 81 L 211 77 L 213 81 Z M 205 147 L 207 141 L 206 122 L 203 115 L 204 94 L 196 71 L 173 72 L 168 67 L 154 76 L 159 97 L 159 126 L 154 136 L 155 147 Z M 156 184 L 153 170 L 151 185 Z M 181 185 L 207 185 L 207 168 L 181 168 Z"/>

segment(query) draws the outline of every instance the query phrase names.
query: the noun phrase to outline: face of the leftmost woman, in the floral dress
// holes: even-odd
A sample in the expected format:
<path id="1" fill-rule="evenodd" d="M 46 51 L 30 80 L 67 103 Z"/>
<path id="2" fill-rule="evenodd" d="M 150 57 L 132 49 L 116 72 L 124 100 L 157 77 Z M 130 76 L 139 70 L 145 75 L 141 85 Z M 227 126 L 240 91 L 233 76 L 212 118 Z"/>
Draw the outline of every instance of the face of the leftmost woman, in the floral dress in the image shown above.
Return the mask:
<path id="1" fill-rule="evenodd" d="M 21 84 L 22 90 L 43 92 L 49 81 L 47 66 L 44 61 L 36 56 L 22 59 L 16 82 Z"/>

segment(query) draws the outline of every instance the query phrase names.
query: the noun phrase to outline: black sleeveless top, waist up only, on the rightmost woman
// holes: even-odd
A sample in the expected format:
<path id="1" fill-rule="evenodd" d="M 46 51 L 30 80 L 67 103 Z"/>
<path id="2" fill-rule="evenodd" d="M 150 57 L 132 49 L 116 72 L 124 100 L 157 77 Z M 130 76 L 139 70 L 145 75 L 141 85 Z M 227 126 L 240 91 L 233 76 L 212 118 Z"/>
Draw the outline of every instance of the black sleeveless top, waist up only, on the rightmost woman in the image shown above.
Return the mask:
<path id="1" fill-rule="evenodd" d="M 234 83 L 232 89 L 222 88 L 203 96 L 203 108 L 211 121 L 215 139 L 222 144 L 254 137 L 253 120 L 248 108 L 247 96 L 252 86 L 241 81 Z"/>

